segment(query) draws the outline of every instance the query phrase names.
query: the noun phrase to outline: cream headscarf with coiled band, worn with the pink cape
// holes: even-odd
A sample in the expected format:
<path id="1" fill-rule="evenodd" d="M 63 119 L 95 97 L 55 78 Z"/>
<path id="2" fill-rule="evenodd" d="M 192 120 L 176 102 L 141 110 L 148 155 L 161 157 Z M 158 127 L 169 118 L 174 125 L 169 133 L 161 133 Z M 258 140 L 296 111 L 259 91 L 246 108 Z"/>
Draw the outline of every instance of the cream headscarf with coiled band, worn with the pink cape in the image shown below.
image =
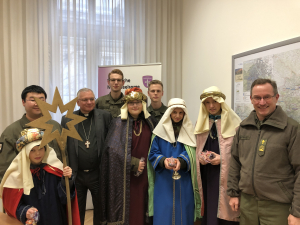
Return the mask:
<path id="1" fill-rule="evenodd" d="M 207 111 L 204 102 L 207 98 L 213 98 L 221 104 L 221 134 L 223 138 L 232 137 L 235 135 L 235 129 L 240 125 L 240 117 L 225 103 L 225 95 L 221 90 L 212 86 L 203 91 L 200 96 L 202 103 L 200 104 L 199 115 L 195 127 L 195 134 L 201 134 L 209 131 L 209 112 Z"/>

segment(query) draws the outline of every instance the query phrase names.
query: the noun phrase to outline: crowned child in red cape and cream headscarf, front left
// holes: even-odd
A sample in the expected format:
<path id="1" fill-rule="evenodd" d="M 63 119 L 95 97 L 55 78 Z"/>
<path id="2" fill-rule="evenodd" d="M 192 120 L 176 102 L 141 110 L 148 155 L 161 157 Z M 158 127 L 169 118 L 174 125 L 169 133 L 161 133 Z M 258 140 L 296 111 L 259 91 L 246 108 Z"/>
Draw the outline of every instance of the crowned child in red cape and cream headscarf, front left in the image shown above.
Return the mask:
<path id="1" fill-rule="evenodd" d="M 72 169 L 57 158 L 46 145 L 40 148 L 44 132 L 25 129 L 17 141 L 19 154 L 12 161 L 0 184 L 0 197 L 8 215 L 22 223 L 38 211 L 38 225 L 66 225 L 67 196 L 64 176 L 69 177 L 72 200 L 72 222 L 79 225 L 79 212 Z"/>

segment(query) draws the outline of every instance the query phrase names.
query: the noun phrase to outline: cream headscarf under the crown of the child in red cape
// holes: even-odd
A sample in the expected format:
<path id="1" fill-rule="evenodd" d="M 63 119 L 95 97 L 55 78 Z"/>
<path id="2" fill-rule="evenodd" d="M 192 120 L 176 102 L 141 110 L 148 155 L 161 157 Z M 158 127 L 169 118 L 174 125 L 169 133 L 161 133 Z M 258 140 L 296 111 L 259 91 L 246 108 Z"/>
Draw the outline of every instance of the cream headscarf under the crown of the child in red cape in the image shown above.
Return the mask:
<path id="1" fill-rule="evenodd" d="M 2 182 L 0 184 L 0 198 L 2 198 L 3 188 L 24 189 L 24 194 L 29 195 L 30 190 L 34 187 L 32 174 L 30 171 L 29 153 L 31 149 L 40 145 L 42 140 L 33 141 L 25 145 L 20 153 L 14 158 L 8 169 L 6 170 Z M 45 146 L 46 151 L 42 163 L 63 170 L 62 162 L 57 158 L 53 148 Z"/>

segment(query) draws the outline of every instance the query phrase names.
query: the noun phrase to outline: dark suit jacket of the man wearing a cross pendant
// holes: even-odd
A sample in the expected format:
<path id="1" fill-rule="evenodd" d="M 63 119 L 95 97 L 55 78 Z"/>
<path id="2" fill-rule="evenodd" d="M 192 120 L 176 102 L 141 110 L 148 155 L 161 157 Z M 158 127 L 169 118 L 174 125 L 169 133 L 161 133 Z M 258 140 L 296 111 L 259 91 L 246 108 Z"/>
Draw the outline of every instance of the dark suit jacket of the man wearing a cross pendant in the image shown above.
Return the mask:
<path id="1" fill-rule="evenodd" d="M 109 124 L 111 122 L 112 117 L 110 113 L 101 109 L 93 109 L 93 111 L 94 111 L 94 122 L 95 122 L 96 135 L 97 135 L 98 157 L 100 158 L 99 159 L 100 161 L 106 134 L 108 132 Z M 74 111 L 73 113 L 79 115 L 79 110 Z M 70 120 L 71 119 L 63 116 L 63 118 L 61 119 L 61 126 L 63 128 L 68 129 L 66 123 L 69 122 Z M 75 129 L 78 131 L 78 124 L 75 125 Z M 73 170 L 72 172 L 75 178 L 78 172 L 78 141 L 79 140 L 71 137 L 68 137 L 67 139 L 67 151 L 69 154 L 69 162 L 70 162 L 69 165 Z"/>

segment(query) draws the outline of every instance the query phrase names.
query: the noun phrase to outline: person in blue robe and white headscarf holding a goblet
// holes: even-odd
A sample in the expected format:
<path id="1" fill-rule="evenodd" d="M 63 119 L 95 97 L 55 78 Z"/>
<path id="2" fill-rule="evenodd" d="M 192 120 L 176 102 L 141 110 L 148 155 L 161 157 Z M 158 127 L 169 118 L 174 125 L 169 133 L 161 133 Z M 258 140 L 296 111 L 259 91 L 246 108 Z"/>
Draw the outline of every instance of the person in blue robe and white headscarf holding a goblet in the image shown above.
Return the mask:
<path id="1" fill-rule="evenodd" d="M 153 224 L 193 225 L 200 218 L 201 204 L 196 177 L 196 139 L 183 99 L 170 99 L 153 134 L 147 170 L 149 214 L 153 215 Z"/>

